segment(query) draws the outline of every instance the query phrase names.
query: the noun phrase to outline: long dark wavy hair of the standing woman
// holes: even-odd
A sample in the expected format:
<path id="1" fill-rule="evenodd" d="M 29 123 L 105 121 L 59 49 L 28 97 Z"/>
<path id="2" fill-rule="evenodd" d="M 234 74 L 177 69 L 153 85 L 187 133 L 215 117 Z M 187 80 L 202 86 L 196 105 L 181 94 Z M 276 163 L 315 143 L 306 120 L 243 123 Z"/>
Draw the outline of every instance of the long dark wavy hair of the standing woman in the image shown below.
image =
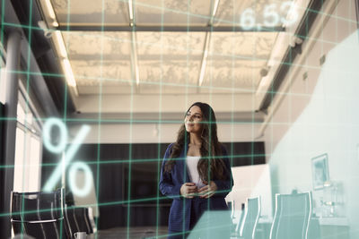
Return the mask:
<path id="1" fill-rule="evenodd" d="M 215 111 L 206 103 L 196 102 L 188 108 L 197 106 L 202 111 L 203 120 L 202 134 L 201 134 L 201 158 L 197 164 L 197 171 L 200 178 L 208 182 L 208 179 L 225 179 L 224 178 L 224 162 L 221 156 L 223 155 L 223 146 L 218 141 L 217 137 L 217 124 L 215 121 Z M 188 112 L 187 110 L 187 112 Z M 187 114 L 186 112 L 186 114 Z M 185 124 L 180 126 L 177 141 L 172 145 L 170 159 L 166 162 L 164 170 L 171 172 L 172 167 L 176 164 L 174 158 L 180 157 L 185 144 L 189 142 L 189 132 L 186 131 Z M 208 166 L 209 163 L 209 166 Z M 209 168 L 209 170 L 208 170 Z"/>

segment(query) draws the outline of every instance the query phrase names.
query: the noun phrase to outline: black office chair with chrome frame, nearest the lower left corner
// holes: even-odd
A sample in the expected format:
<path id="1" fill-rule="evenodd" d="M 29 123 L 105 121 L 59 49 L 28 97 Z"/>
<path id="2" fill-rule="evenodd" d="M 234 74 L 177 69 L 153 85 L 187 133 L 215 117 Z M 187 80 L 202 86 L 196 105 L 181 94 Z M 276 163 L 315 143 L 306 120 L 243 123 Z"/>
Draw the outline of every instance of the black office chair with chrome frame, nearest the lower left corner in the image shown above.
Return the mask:
<path id="1" fill-rule="evenodd" d="M 63 237 L 64 191 L 12 192 L 11 222 L 14 234 L 37 239 Z"/>

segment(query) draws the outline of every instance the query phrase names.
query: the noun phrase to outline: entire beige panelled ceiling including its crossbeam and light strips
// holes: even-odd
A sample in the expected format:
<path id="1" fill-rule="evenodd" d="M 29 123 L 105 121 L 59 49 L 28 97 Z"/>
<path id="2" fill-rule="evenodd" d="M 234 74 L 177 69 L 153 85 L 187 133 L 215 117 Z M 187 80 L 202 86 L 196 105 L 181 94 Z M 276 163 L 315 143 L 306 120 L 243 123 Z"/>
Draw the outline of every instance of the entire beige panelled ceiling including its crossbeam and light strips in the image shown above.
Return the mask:
<path id="1" fill-rule="evenodd" d="M 60 30 L 76 83 L 71 91 L 74 105 L 83 113 L 89 108 L 84 102 L 99 96 L 103 100 L 136 96 L 144 102 L 148 97 L 153 102 L 160 96 L 162 100 L 177 96 L 175 101 L 181 101 L 230 94 L 244 97 L 235 112 L 255 112 L 263 76 L 276 70 L 268 63 L 273 61 L 279 34 L 285 32 L 280 20 L 289 14 L 288 1 L 278 0 L 39 3 L 48 26 Z M 47 3 L 55 17 L 45 9 Z M 245 28 L 251 21 L 253 26 Z M 266 21 L 273 24 L 268 27 Z M 284 55 L 283 49 L 278 52 Z M 276 55 L 278 59 L 281 55 Z M 251 98 L 255 99 L 246 102 Z M 230 112 L 233 104 L 223 112 Z"/>

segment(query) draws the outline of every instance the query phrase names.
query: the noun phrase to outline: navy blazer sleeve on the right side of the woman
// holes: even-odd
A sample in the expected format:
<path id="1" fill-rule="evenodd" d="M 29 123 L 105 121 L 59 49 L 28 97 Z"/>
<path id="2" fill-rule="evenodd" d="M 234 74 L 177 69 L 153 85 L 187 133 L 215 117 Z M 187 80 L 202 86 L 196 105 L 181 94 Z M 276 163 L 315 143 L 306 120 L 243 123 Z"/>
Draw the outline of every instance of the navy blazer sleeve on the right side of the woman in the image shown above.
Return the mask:
<path id="1" fill-rule="evenodd" d="M 222 148 L 223 150 L 223 161 L 225 165 L 224 173 L 226 175 L 226 180 L 214 180 L 215 185 L 217 186 L 217 192 L 215 193 L 214 197 L 223 197 L 225 198 L 229 192 L 232 191 L 233 176 L 232 176 L 232 169 L 230 159 L 228 158 L 227 150 Z"/>

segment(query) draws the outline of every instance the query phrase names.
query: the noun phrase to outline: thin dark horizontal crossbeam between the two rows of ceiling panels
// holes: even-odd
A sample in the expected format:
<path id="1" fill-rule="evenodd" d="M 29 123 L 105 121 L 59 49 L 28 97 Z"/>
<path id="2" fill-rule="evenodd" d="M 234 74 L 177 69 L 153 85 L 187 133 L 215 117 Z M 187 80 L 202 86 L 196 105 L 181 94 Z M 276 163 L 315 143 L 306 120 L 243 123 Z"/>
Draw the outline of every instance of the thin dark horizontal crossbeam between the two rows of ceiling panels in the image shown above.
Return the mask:
<path id="1" fill-rule="evenodd" d="M 62 24 L 60 23 L 59 27 L 56 30 L 64 31 L 176 31 L 176 32 L 272 32 L 272 31 L 285 31 L 285 28 L 282 26 L 276 26 L 267 28 L 261 26 L 260 28 L 253 28 L 250 30 L 243 29 L 240 26 L 127 26 L 127 25 L 79 25 L 79 24 Z"/>

